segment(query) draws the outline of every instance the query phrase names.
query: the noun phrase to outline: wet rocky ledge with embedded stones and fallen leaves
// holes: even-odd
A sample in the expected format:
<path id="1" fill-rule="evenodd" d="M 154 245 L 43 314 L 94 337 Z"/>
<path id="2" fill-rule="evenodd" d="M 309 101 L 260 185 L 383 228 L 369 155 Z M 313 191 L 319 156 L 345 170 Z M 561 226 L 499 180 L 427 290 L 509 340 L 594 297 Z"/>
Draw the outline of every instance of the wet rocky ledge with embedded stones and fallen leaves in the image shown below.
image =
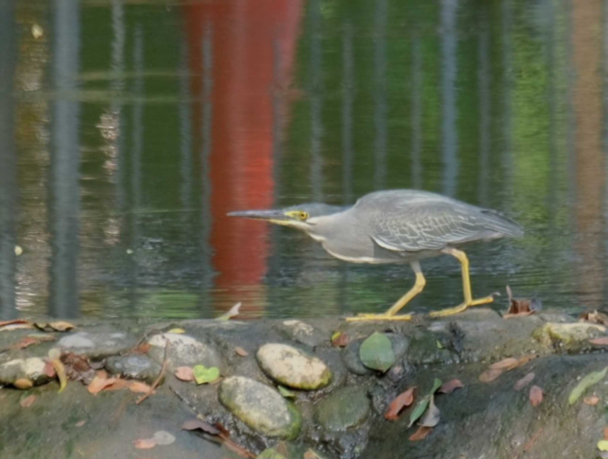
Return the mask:
<path id="1" fill-rule="evenodd" d="M 0 457 L 605 454 L 606 328 L 561 313 L 21 325 L 0 327 Z"/>

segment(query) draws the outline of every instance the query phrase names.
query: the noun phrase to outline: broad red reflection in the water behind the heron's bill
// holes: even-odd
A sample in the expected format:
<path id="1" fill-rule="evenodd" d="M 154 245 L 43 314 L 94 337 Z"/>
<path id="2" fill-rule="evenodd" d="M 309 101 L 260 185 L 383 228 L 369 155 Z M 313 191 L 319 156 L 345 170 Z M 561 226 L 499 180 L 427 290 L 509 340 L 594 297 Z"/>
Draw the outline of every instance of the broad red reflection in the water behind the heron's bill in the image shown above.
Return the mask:
<path id="1" fill-rule="evenodd" d="M 226 308 L 242 301 L 241 311 L 246 315 L 261 315 L 268 225 L 230 219 L 226 213 L 272 206 L 272 131 L 276 124 L 272 94 L 288 87 L 291 78 L 300 1 L 201 2 L 184 7 L 184 14 L 193 75 L 200 75 L 203 68 L 201 44 L 206 33 L 212 47 L 208 176 L 213 219 L 210 243 L 215 251 L 213 268 L 218 272 L 215 287 L 224 290 Z M 193 97 L 201 98 L 203 90 L 202 78 L 193 77 Z M 284 121 L 287 107 L 281 100 L 277 112 Z M 194 126 L 201 126 L 201 116 L 199 105 Z"/>

